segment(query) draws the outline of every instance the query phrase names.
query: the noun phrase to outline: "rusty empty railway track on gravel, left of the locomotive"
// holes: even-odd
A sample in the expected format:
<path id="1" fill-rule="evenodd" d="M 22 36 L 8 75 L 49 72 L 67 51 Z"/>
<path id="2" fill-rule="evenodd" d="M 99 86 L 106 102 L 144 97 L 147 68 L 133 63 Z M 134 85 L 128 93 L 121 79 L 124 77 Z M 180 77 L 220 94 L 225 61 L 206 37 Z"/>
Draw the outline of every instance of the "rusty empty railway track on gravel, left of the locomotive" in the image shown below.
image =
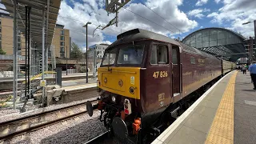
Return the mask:
<path id="1" fill-rule="evenodd" d="M 95 98 L 91 102 L 96 102 Z M 40 114 L 29 115 L 23 118 L 13 119 L 0 123 L 0 140 L 14 138 L 18 135 L 26 134 L 43 127 L 53 125 L 58 122 L 62 124 L 70 118 L 78 118 L 80 115 L 86 114 L 86 102 L 82 102 L 73 106 L 66 106 L 56 110 L 49 110 Z"/>

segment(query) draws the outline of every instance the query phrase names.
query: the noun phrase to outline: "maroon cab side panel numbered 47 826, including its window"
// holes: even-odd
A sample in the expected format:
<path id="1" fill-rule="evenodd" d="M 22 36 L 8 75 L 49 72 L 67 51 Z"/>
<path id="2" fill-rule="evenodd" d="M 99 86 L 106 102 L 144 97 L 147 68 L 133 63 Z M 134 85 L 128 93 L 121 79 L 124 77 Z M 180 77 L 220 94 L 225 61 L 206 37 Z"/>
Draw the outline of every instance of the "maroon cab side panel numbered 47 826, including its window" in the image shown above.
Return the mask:
<path id="1" fill-rule="evenodd" d="M 141 86 L 145 91 L 145 111 L 166 108 L 171 102 L 170 97 L 170 64 L 169 46 L 166 43 L 152 43 L 148 54 L 146 70 L 141 70 Z"/>

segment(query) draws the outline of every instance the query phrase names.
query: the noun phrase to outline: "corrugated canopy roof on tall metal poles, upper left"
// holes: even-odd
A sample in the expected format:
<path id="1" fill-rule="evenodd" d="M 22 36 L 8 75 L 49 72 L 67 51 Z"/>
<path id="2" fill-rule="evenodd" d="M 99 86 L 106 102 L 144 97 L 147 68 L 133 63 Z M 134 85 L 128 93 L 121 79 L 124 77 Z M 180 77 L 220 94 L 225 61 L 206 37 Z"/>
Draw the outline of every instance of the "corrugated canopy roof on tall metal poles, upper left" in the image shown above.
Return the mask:
<path id="1" fill-rule="evenodd" d="M 10 13 L 10 16 L 14 17 L 14 1 L 15 0 L 2 0 L 6 10 Z M 17 2 L 17 24 L 18 30 L 25 34 L 26 31 L 26 9 L 25 6 L 30 6 L 30 31 L 33 42 L 36 42 L 38 46 L 42 44 L 42 10 L 45 10 L 45 43 L 50 45 L 54 35 L 54 29 L 57 22 L 58 10 L 61 4 L 61 0 L 16 0 Z M 49 2 L 49 3 L 47 3 Z M 49 9 L 48 9 L 49 7 Z M 48 25 L 47 25 L 48 18 Z M 48 29 L 47 29 L 48 28 Z"/>

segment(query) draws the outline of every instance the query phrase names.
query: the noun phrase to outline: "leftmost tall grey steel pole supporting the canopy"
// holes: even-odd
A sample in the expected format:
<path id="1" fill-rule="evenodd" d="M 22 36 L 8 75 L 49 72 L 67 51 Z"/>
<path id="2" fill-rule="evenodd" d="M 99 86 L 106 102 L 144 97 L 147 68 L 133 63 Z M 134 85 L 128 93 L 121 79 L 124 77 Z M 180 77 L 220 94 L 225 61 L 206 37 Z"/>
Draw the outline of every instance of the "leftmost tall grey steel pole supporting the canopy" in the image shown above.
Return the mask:
<path id="1" fill-rule="evenodd" d="M 18 44 L 17 44 L 17 7 L 16 7 L 16 0 L 14 0 L 14 97 L 13 97 L 13 108 L 16 109 L 16 97 L 17 97 L 17 80 L 18 80 L 18 74 L 17 74 L 17 67 L 18 67 Z"/>

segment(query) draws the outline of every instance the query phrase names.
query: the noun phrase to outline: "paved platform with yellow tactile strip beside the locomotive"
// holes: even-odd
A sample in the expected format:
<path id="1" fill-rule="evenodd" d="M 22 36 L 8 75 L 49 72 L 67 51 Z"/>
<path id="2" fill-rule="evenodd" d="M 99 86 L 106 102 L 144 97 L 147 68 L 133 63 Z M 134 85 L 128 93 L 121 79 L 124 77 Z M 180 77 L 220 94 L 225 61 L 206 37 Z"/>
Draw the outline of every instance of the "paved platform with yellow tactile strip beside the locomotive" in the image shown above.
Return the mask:
<path id="1" fill-rule="evenodd" d="M 255 144 L 256 90 L 232 71 L 206 91 L 153 144 Z"/>

